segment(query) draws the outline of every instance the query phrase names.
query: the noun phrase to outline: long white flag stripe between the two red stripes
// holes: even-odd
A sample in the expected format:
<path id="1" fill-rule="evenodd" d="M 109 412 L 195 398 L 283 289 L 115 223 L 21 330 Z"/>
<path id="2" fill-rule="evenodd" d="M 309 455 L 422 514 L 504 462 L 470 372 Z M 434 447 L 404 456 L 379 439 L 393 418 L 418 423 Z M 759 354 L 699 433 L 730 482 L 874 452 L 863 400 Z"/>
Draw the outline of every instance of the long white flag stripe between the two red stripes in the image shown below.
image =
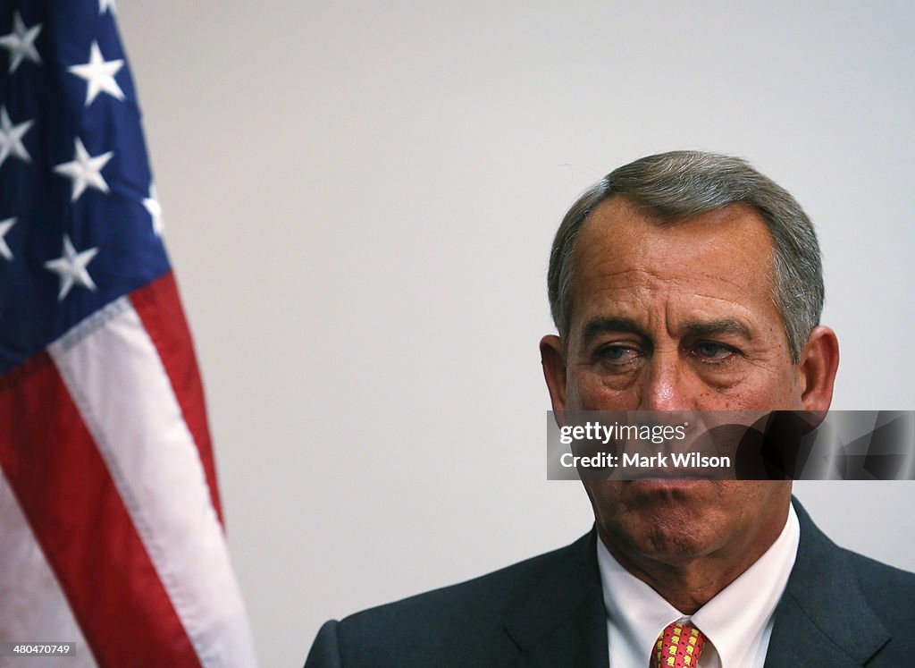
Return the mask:
<path id="1" fill-rule="evenodd" d="M 256 665 L 197 446 L 127 298 L 50 345 L 200 663 Z"/>

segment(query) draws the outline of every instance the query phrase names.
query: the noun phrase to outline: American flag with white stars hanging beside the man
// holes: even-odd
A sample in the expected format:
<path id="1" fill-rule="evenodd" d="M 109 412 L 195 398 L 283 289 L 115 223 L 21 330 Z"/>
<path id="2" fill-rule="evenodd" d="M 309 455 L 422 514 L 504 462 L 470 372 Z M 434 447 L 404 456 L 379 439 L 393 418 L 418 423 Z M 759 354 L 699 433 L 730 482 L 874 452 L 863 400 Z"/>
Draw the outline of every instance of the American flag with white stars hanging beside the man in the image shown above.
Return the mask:
<path id="1" fill-rule="evenodd" d="M 251 666 L 114 13 L 0 0 L 0 642 Z"/>

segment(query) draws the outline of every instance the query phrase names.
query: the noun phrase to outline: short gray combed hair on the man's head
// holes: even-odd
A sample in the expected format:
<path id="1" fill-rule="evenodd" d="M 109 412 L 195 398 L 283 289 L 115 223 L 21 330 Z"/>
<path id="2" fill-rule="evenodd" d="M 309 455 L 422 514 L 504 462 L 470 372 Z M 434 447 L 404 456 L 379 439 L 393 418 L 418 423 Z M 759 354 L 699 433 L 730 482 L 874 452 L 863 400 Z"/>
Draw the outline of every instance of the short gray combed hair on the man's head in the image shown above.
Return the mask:
<path id="1" fill-rule="evenodd" d="M 611 171 L 565 214 L 556 232 L 547 273 L 550 310 L 560 337 L 571 318 L 572 266 L 576 239 L 588 215 L 613 195 L 647 210 L 661 225 L 746 203 L 759 212 L 773 241 L 772 301 L 781 314 L 791 359 L 796 364 L 823 312 L 823 266 L 813 224 L 801 205 L 746 160 L 673 151 L 641 158 Z"/>

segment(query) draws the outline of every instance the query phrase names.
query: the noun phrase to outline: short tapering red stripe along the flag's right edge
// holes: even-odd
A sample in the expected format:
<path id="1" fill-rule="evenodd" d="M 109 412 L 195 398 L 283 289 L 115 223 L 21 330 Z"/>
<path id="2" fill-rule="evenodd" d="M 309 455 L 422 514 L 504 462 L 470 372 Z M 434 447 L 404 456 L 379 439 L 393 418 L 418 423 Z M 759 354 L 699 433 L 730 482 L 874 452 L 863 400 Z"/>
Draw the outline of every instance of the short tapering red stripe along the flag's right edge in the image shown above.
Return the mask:
<path id="1" fill-rule="evenodd" d="M 160 279 L 135 290 L 130 295 L 134 310 L 140 316 L 146 332 L 156 345 L 156 351 L 166 367 L 178 406 L 184 415 L 190 435 L 197 444 L 200 461 L 203 463 L 210 498 L 216 515 L 222 522 L 220 492 L 216 485 L 216 463 L 210 441 L 210 426 L 207 422 L 207 407 L 203 399 L 203 383 L 200 380 L 197 356 L 190 338 L 188 321 L 181 309 L 178 285 L 175 276 L 168 272 Z"/>

